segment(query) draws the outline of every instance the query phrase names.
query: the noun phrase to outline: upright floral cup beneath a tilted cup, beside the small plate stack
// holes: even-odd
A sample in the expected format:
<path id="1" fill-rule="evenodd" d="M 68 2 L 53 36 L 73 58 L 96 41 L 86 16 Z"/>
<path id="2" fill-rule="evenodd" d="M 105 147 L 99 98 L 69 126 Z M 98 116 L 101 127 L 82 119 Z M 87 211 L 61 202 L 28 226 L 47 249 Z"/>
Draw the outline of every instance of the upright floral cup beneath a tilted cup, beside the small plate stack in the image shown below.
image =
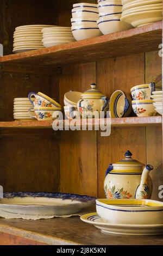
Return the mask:
<path id="1" fill-rule="evenodd" d="M 32 114 L 34 111 L 34 115 Z M 30 108 L 28 113 L 30 118 L 37 119 L 38 121 L 51 121 L 57 117 L 53 117 L 54 112 L 61 111 L 61 108 L 45 107 L 45 108 Z"/>

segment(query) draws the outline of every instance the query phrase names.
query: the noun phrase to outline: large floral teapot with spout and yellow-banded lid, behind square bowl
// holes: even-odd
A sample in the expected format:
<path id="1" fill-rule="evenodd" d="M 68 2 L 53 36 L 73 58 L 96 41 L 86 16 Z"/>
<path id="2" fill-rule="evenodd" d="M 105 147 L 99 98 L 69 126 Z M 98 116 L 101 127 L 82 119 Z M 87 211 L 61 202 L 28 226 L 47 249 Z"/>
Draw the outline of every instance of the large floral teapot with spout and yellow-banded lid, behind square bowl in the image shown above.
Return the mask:
<path id="1" fill-rule="evenodd" d="M 104 190 L 108 199 L 150 199 L 152 195 L 152 180 L 149 172 L 153 166 L 132 159 L 128 150 L 125 159 L 110 164 L 106 170 Z"/>

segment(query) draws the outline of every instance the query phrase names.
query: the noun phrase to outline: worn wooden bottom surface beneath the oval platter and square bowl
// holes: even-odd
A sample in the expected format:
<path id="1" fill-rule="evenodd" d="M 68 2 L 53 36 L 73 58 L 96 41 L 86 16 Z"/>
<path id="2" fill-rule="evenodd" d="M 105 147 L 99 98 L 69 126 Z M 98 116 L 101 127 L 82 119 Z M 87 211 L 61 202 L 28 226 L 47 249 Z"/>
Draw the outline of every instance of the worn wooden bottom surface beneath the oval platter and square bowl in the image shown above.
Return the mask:
<path id="1" fill-rule="evenodd" d="M 9 234 L 10 237 L 12 235 L 21 237 L 19 243 L 18 239 L 15 239 L 15 245 L 21 245 L 23 239 L 29 239 L 29 242 L 26 240 L 27 245 L 31 244 L 31 241 L 46 245 L 162 245 L 163 243 L 162 235 L 142 237 L 104 234 L 93 225 L 80 221 L 79 217 L 41 221 L 1 218 L 0 244 L 6 245 L 5 234 Z"/>

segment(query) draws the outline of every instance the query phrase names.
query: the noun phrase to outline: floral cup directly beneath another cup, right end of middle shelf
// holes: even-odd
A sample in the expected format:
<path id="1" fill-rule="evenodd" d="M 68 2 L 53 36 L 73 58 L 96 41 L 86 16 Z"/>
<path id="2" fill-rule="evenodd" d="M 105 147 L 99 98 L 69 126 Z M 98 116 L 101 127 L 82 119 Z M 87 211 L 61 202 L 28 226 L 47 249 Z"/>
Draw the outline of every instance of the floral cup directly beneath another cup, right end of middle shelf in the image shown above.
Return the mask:
<path id="1" fill-rule="evenodd" d="M 132 106 L 137 117 L 152 117 L 156 115 L 153 100 L 133 100 Z"/>

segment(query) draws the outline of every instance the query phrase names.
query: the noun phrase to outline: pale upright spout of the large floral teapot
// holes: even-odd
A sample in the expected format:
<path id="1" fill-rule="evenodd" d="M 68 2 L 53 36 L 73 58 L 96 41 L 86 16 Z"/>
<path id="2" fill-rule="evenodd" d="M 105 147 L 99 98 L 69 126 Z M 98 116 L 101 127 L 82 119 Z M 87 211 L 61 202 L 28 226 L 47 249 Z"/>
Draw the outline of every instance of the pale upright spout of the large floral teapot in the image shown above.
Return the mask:
<path id="1" fill-rule="evenodd" d="M 141 182 L 135 194 L 136 199 L 150 199 L 149 197 L 151 193 L 149 191 L 148 176 L 151 170 L 153 170 L 153 166 L 150 164 L 148 164 L 143 170 Z"/>

